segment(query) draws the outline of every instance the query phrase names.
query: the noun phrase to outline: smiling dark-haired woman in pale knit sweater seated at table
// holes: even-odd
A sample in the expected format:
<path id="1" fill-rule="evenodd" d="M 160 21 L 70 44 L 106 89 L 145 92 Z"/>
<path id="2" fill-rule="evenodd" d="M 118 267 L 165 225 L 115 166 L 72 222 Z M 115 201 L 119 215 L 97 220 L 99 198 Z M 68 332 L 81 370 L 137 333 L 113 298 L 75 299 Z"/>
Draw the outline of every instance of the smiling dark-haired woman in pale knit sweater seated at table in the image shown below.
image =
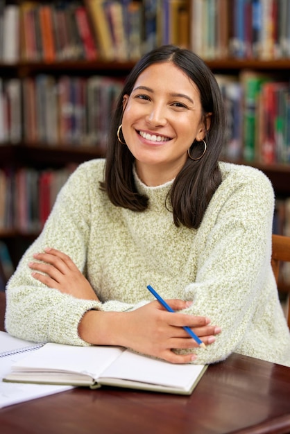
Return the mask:
<path id="1" fill-rule="evenodd" d="M 119 97 L 106 161 L 71 175 L 10 279 L 6 329 L 172 363 L 236 351 L 290 365 L 271 270 L 273 189 L 255 168 L 218 161 L 224 123 L 198 56 L 175 46 L 145 55 Z"/>

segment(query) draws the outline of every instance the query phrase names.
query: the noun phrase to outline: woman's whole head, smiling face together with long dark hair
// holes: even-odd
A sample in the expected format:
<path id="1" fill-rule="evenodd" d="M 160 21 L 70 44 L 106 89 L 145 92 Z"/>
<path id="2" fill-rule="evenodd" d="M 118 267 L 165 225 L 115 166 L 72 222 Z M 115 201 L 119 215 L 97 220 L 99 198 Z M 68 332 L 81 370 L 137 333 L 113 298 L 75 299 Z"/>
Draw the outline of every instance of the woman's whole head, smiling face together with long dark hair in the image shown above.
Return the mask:
<path id="1" fill-rule="evenodd" d="M 148 53 L 129 74 L 114 114 L 105 171 L 110 200 L 133 211 L 146 209 L 146 197 L 132 183 L 133 167 L 141 180 L 146 176 L 148 186 L 175 179 L 170 198 L 174 223 L 197 228 L 221 183 L 224 130 L 219 85 L 203 60 L 174 46 Z"/>

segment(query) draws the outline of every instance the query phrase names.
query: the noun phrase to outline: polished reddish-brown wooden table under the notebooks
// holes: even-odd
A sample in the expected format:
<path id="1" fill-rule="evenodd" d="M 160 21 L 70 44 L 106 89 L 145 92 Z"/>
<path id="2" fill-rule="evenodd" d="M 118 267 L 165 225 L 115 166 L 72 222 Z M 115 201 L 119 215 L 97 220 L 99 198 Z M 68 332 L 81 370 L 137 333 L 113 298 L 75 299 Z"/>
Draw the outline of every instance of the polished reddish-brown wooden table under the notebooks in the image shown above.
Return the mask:
<path id="1" fill-rule="evenodd" d="M 0 294 L 0 314 L 5 300 Z M 3 317 L 1 329 L 3 330 Z M 3 434 L 286 434 L 290 369 L 232 354 L 190 397 L 77 388 L 0 410 Z"/>

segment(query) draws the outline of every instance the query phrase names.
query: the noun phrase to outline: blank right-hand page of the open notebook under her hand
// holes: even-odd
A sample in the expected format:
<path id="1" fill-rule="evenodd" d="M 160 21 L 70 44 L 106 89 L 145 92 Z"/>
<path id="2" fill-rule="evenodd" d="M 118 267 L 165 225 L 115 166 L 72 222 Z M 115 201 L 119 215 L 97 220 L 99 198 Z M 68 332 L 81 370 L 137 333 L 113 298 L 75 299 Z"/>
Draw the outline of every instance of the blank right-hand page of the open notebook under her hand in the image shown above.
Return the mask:
<path id="1" fill-rule="evenodd" d="M 204 365 L 176 365 L 126 350 L 103 372 L 102 378 L 120 378 L 187 390 L 203 369 Z"/>

